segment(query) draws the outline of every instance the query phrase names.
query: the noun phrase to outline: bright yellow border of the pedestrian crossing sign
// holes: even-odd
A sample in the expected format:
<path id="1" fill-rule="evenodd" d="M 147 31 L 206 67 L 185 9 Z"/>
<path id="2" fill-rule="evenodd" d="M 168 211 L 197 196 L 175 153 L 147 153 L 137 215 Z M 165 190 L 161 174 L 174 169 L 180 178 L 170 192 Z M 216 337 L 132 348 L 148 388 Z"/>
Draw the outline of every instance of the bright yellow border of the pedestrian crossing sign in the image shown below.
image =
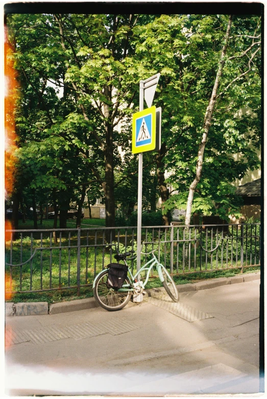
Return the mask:
<path id="1" fill-rule="evenodd" d="M 151 121 L 151 135 L 152 141 L 150 144 L 144 144 L 143 146 L 136 147 L 135 138 L 136 138 L 136 119 L 141 117 L 145 117 L 149 114 L 152 114 Z M 150 108 L 143 109 L 142 111 L 136 112 L 133 114 L 133 122 L 132 122 L 132 153 L 137 154 L 139 152 L 152 151 L 156 148 L 156 107 L 153 105 Z"/>

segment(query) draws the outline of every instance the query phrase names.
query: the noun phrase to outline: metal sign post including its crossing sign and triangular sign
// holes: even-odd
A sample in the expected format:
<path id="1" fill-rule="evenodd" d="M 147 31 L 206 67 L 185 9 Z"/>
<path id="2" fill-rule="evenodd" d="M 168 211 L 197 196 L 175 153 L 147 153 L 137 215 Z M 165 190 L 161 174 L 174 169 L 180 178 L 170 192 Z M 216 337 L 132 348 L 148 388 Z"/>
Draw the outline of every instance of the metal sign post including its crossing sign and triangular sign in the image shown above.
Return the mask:
<path id="1" fill-rule="evenodd" d="M 146 80 L 140 80 L 139 113 L 133 117 L 133 153 L 138 156 L 138 198 L 137 198 L 137 271 L 141 264 L 141 226 L 142 226 L 142 175 L 143 175 L 143 151 L 156 148 L 156 108 L 151 107 L 158 84 L 160 74 L 156 74 Z M 143 99 L 150 109 L 148 114 L 143 111 Z M 153 108 L 153 109 L 152 109 Z M 151 115 L 151 119 L 150 118 Z M 153 116 L 155 115 L 155 116 Z M 151 125 L 150 125 L 151 120 Z M 154 137 L 153 137 L 154 135 Z M 150 136 L 150 137 L 149 137 Z M 155 143 L 154 143 L 155 141 Z M 140 276 L 138 276 L 139 279 Z"/>

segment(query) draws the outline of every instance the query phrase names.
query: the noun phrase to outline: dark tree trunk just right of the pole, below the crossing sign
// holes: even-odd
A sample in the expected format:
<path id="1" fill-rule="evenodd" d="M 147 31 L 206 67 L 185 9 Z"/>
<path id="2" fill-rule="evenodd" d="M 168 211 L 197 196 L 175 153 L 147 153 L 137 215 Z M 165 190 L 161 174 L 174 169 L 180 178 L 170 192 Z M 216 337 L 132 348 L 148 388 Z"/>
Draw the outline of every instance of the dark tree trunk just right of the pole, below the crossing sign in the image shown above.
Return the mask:
<path id="1" fill-rule="evenodd" d="M 163 158 L 165 157 L 166 154 L 166 143 L 162 143 L 161 148 L 159 152 L 156 155 L 156 165 L 157 165 L 157 179 L 158 179 L 158 185 L 159 185 L 159 192 L 160 192 L 160 197 L 161 197 L 161 204 L 162 204 L 162 210 L 164 209 L 164 203 L 167 201 L 169 197 L 169 191 L 167 189 L 166 183 L 165 183 L 165 178 L 164 178 L 164 162 Z M 170 215 L 169 212 L 167 212 L 165 215 L 162 215 L 162 221 L 164 226 L 169 226 L 170 225 Z"/>

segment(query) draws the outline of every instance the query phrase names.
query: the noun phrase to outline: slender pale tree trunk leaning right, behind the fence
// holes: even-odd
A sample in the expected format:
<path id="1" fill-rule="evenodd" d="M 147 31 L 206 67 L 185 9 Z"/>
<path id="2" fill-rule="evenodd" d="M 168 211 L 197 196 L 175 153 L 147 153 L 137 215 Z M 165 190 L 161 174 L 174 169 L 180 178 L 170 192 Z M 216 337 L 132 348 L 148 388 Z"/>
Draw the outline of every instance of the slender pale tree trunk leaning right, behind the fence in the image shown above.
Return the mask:
<path id="1" fill-rule="evenodd" d="M 227 50 L 227 43 L 228 39 L 230 36 L 230 30 L 231 30 L 231 25 L 232 25 L 232 15 L 229 15 L 229 21 L 228 21 L 228 26 L 227 26 L 227 31 L 226 31 L 226 36 L 225 36 L 225 42 L 221 54 L 221 58 L 219 61 L 219 66 L 217 70 L 217 75 L 215 79 L 215 83 L 213 86 L 211 98 L 209 100 L 209 105 L 206 110 L 206 114 L 204 117 L 204 123 L 203 123 L 203 136 L 202 136 L 202 141 L 199 145 L 199 151 L 198 151 L 198 161 L 197 161 L 197 167 L 196 167 L 196 177 L 191 183 L 189 187 L 189 193 L 188 193 L 188 198 L 187 198 L 187 207 L 186 207 L 186 215 L 185 215 L 185 225 L 188 228 L 190 225 L 190 217 L 191 217 L 191 209 L 192 209 L 192 202 L 193 202 L 193 195 L 195 193 L 195 189 L 201 179 L 201 174 L 202 174 L 202 166 L 203 166 L 203 158 L 204 158 L 204 149 L 205 145 L 207 142 L 208 138 L 208 132 L 209 128 L 211 125 L 211 120 L 212 120 L 212 115 L 213 115 L 213 110 L 214 106 L 216 103 L 216 97 L 217 97 L 217 90 L 219 88 L 219 84 L 221 81 L 222 73 L 223 73 L 223 68 L 225 64 L 225 55 L 226 55 L 226 50 Z"/>

